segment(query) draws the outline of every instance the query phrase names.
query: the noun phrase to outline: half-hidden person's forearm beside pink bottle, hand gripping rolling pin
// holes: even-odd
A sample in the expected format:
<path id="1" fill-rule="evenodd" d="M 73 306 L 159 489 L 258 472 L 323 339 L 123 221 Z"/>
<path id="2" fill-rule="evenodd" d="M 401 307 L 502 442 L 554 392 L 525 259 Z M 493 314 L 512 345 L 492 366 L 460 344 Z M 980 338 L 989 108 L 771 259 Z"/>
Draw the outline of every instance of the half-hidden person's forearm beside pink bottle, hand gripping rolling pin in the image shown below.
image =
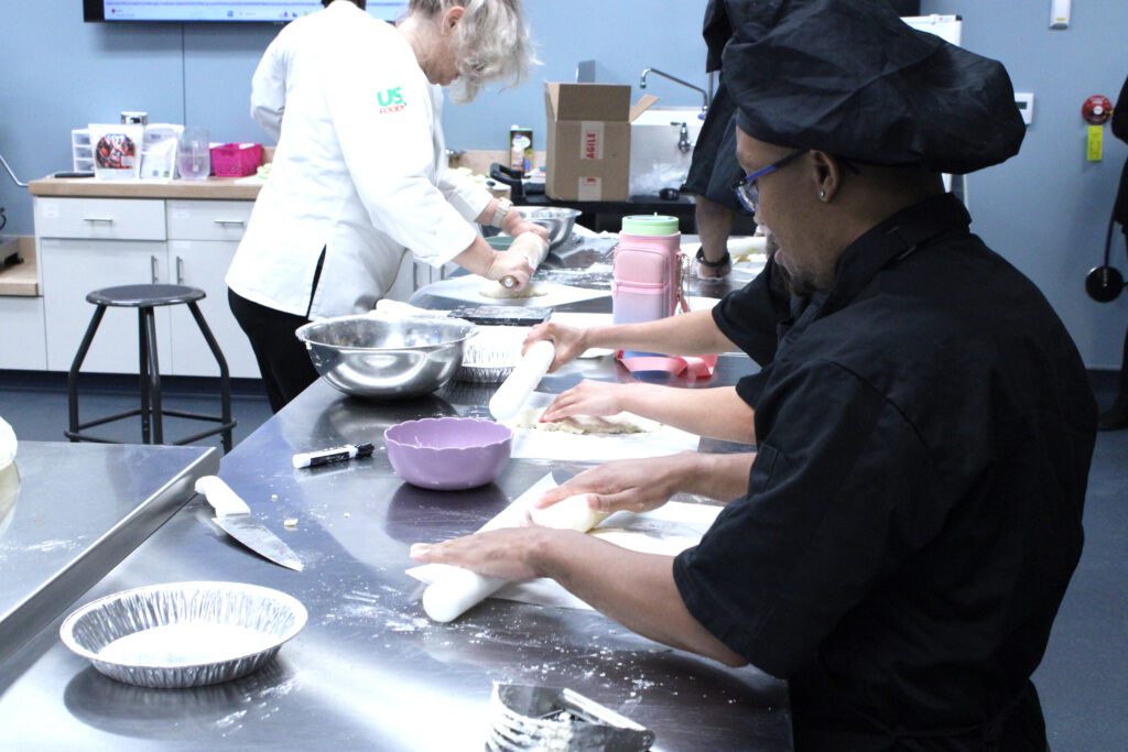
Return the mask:
<path id="1" fill-rule="evenodd" d="M 734 347 L 721 334 L 712 311 L 690 311 L 644 324 L 591 327 L 584 333 L 584 343 L 588 347 L 638 350 L 667 355 L 708 355 Z"/>

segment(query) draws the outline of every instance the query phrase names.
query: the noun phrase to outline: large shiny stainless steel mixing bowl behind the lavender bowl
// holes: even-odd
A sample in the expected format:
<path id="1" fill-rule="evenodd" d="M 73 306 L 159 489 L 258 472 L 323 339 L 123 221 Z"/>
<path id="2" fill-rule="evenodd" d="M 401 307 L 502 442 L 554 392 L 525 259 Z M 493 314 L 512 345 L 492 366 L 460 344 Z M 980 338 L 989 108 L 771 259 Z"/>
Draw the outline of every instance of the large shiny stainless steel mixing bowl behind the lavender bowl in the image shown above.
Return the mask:
<path id="1" fill-rule="evenodd" d="M 440 317 L 341 316 L 299 327 L 314 368 L 331 384 L 364 399 L 407 399 L 447 383 L 476 327 Z"/>

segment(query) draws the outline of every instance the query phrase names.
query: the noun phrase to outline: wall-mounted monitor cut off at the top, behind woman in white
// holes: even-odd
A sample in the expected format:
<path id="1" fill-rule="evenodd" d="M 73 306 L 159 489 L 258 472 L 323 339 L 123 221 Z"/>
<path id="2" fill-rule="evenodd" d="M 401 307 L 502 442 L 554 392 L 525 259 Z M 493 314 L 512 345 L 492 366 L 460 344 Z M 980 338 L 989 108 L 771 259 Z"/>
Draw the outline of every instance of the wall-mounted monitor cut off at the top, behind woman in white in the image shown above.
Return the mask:
<path id="1" fill-rule="evenodd" d="M 368 12 L 384 20 L 396 20 L 406 7 L 407 0 L 368 0 Z M 285 24 L 320 9 L 320 0 L 82 0 L 83 20 L 108 23 Z"/>

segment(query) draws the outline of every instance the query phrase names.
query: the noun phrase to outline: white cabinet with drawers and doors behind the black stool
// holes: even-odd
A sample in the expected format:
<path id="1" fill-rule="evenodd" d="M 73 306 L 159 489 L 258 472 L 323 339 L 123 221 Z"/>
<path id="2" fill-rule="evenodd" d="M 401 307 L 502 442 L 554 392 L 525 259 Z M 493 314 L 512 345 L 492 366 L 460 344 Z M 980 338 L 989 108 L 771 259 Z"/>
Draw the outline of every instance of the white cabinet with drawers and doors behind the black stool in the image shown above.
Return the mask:
<path id="1" fill-rule="evenodd" d="M 46 368 L 67 371 L 94 315 L 86 295 L 126 284 L 185 284 L 206 298 L 200 310 L 230 374 L 258 378 L 250 344 L 227 304 L 223 277 L 252 201 L 37 197 L 46 320 Z M 185 306 L 156 309 L 164 375 L 218 375 L 211 351 Z M 106 311 L 82 371 L 138 373 L 138 312 Z M 34 366 L 32 366 L 34 368 Z"/>

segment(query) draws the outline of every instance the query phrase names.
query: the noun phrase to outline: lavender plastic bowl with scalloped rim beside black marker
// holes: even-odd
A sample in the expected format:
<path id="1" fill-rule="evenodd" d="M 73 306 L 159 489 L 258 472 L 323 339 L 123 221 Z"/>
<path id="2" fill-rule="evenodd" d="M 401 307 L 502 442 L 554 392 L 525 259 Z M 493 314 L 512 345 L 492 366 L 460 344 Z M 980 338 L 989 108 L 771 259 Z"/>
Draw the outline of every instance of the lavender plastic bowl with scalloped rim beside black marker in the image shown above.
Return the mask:
<path id="1" fill-rule="evenodd" d="M 415 486 L 459 490 L 484 486 L 509 461 L 513 432 L 481 418 L 422 418 L 384 432 L 388 460 Z"/>

